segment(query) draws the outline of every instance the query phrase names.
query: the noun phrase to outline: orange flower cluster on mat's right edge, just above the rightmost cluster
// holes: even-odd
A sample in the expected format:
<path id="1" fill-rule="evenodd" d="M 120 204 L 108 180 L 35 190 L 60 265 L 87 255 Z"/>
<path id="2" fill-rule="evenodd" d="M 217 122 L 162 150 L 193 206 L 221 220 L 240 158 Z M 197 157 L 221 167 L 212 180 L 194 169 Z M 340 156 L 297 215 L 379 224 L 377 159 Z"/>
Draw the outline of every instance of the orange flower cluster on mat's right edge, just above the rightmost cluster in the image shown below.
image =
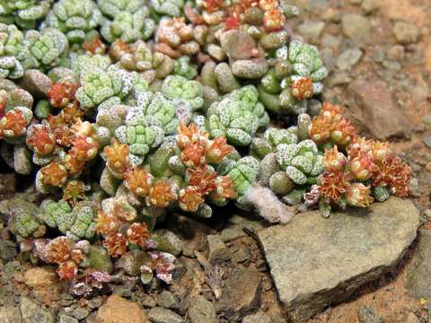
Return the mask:
<path id="1" fill-rule="evenodd" d="M 346 147 L 355 139 L 356 129 L 344 118 L 339 106 L 325 102 L 321 115 L 312 119 L 309 136 L 316 144 Z"/>

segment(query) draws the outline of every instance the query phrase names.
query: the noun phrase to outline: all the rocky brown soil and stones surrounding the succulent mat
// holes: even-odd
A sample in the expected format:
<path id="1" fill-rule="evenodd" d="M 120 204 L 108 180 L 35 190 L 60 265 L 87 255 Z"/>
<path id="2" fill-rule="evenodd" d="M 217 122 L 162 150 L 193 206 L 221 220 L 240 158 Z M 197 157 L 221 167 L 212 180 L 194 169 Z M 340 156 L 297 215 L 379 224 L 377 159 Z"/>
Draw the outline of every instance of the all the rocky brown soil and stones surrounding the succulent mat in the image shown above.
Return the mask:
<path id="1" fill-rule="evenodd" d="M 270 228 L 253 214 L 172 214 L 174 284 L 110 284 L 92 299 L 22 261 L 4 234 L 1 323 L 431 322 L 431 2 L 293 2 L 303 13 L 292 31 L 330 66 L 323 99 L 341 98 L 362 135 L 391 139 L 415 171 L 412 202 Z M 0 200 L 20 183 L 0 174 Z"/>

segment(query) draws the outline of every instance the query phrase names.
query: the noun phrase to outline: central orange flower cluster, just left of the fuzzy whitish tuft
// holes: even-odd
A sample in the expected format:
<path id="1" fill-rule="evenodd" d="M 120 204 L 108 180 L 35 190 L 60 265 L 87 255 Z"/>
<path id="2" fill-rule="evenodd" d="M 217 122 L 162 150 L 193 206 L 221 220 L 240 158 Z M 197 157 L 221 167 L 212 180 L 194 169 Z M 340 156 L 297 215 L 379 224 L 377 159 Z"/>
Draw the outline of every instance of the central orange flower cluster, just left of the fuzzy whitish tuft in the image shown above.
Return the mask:
<path id="1" fill-rule="evenodd" d="M 232 146 L 226 144 L 226 138 L 208 139 L 195 124 L 189 127 L 180 125 L 177 144 L 181 149 L 180 159 L 188 168 L 188 186 L 180 189 L 179 206 L 187 212 L 197 212 L 205 200 L 204 196 L 223 201 L 234 198 L 233 180 L 228 176 L 218 176 L 208 164 L 218 164 L 232 151 Z"/>

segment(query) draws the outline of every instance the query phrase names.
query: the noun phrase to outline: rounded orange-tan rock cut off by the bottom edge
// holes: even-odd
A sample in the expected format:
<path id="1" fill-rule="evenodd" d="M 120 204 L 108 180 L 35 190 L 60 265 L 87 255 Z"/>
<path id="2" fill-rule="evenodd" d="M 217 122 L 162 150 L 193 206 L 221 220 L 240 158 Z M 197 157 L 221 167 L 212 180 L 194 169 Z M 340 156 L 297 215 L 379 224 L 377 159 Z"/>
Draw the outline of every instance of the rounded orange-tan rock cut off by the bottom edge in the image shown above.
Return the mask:
<path id="1" fill-rule="evenodd" d="M 136 302 L 111 295 L 97 311 L 97 323 L 147 323 L 144 310 Z"/>

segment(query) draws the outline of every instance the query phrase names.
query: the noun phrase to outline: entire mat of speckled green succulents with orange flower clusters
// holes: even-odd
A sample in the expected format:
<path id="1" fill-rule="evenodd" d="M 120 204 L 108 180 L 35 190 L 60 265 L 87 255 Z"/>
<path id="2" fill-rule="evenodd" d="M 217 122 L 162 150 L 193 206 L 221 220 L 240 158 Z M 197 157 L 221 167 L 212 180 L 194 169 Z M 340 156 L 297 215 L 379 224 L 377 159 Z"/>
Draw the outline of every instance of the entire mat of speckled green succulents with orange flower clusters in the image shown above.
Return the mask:
<path id="1" fill-rule="evenodd" d="M 20 259 L 54 266 L 78 297 L 152 289 L 175 279 L 181 251 L 156 230 L 172 214 L 239 207 L 287 223 L 409 196 L 390 144 L 320 101 L 328 70 L 291 34 L 298 13 L 281 0 L 0 0 L 0 157 L 22 179 L 1 210 Z"/>

